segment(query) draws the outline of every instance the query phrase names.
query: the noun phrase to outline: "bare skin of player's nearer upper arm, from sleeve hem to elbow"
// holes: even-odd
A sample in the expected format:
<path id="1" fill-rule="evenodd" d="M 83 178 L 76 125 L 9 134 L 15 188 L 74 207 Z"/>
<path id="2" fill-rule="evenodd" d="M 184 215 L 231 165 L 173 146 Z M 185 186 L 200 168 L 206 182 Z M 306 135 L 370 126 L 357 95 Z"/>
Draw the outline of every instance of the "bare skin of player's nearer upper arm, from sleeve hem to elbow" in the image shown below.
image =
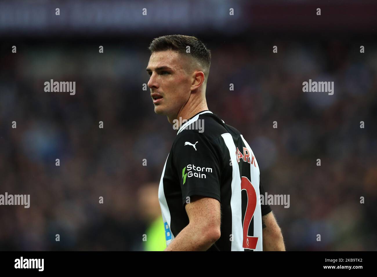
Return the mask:
<path id="1" fill-rule="evenodd" d="M 220 202 L 211 197 L 193 196 L 185 205 L 190 225 L 197 232 L 210 237 L 220 237 L 221 208 Z"/>

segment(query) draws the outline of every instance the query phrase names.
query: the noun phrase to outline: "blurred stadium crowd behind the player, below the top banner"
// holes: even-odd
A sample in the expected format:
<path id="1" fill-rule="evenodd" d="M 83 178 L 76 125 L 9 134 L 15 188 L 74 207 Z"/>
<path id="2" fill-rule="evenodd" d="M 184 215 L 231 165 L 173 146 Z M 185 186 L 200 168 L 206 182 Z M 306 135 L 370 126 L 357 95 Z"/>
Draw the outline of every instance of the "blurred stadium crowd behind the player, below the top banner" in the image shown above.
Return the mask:
<path id="1" fill-rule="evenodd" d="M 143 189 L 158 186 L 176 135 L 143 90 L 150 40 L 1 52 L 0 194 L 31 203 L 0 206 L 0 250 L 146 249 L 159 205 Z M 265 191 L 290 195 L 289 208 L 271 206 L 287 250 L 376 250 L 375 43 L 362 54 L 346 39 L 201 40 L 208 108 L 247 139 Z M 44 92 L 51 79 L 76 94 Z M 334 81 L 334 95 L 303 92 L 309 79 Z"/>

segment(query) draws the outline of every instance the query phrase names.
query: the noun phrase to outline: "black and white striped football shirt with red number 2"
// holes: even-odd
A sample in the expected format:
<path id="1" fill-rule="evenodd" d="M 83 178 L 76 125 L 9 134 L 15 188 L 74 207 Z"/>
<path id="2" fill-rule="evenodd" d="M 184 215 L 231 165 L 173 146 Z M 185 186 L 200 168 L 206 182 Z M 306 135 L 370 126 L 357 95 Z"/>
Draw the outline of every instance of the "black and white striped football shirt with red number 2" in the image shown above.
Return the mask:
<path id="1" fill-rule="evenodd" d="M 192 128 L 198 120 L 203 130 Z M 271 208 L 260 194 L 258 163 L 241 133 L 209 110 L 196 114 L 177 131 L 159 184 L 166 245 L 189 224 L 184 206 L 199 195 L 221 204 L 221 237 L 208 251 L 262 251 L 262 216 Z"/>

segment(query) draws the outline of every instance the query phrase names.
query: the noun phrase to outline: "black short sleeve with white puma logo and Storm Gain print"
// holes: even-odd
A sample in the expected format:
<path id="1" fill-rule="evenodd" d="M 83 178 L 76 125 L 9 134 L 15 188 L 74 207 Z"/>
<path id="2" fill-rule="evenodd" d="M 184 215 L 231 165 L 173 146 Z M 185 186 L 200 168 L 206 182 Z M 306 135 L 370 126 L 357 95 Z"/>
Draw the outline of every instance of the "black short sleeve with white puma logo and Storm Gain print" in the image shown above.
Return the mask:
<path id="1" fill-rule="evenodd" d="M 182 190 L 182 204 L 194 195 L 220 201 L 219 149 L 203 133 L 184 131 L 173 145 L 173 162 Z"/>

